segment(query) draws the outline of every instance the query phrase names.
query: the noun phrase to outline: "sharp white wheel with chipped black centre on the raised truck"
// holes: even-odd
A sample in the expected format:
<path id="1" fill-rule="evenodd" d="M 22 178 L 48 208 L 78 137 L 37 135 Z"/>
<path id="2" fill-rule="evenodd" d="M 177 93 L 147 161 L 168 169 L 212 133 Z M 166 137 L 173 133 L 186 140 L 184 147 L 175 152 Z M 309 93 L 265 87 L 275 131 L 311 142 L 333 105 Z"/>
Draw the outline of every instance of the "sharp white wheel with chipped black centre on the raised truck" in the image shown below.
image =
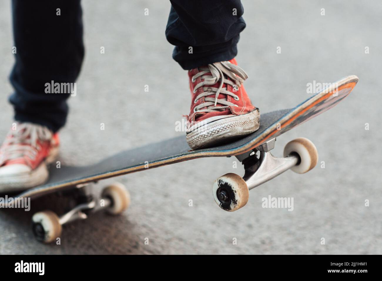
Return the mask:
<path id="1" fill-rule="evenodd" d="M 249 198 L 246 182 L 240 175 L 225 174 L 215 180 L 212 187 L 215 202 L 225 211 L 236 211 L 243 207 Z"/>

